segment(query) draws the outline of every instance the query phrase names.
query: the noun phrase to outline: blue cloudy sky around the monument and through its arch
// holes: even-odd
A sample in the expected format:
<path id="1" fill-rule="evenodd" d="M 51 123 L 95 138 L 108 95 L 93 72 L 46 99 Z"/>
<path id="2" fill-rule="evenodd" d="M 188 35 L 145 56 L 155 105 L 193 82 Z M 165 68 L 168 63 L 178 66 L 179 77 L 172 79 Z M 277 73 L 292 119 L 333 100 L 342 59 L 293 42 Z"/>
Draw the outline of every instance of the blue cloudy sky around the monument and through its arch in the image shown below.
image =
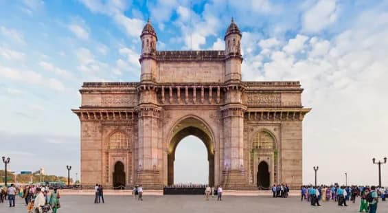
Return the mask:
<path id="1" fill-rule="evenodd" d="M 388 157 L 388 1 L 378 0 L 0 0 L 0 155 L 16 171 L 79 171 L 80 122 L 70 109 L 82 82 L 139 80 L 148 17 L 158 49 L 223 49 L 231 16 L 242 30 L 244 80 L 300 80 L 305 89 L 304 183 L 314 181 L 312 166 L 323 183 L 343 183 L 345 172 L 349 183 L 377 183 L 372 157 Z M 179 180 L 207 179 L 205 155 L 187 137 L 179 165 L 202 160 Z"/>

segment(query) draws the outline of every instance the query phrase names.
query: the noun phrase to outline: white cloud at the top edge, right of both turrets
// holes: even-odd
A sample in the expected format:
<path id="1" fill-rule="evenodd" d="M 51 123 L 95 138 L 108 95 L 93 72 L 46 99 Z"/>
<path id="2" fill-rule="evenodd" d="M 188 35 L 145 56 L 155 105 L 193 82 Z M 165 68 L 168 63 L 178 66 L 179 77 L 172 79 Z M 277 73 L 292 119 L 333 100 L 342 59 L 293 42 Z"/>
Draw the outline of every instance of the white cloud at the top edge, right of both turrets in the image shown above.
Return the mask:
<path id="1" fill-rule="evenodd" d="M 339 15 L 338 7 L 336 0 L 317 1 L 302 17 L 304 32 L 317 33 L 334 23 Z"/>

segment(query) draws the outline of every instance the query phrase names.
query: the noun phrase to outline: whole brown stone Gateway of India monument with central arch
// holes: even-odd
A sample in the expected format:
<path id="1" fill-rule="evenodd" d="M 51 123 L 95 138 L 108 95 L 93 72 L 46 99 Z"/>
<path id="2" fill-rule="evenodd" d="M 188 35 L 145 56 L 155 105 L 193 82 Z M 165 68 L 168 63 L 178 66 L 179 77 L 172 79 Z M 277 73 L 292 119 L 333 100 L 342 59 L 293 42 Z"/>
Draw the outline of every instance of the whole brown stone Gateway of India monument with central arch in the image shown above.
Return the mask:
<path id="1" fill-rule="evenodd" d="M 176 146 L 188 135 L 207 148 L 210 186 L 301 186 L 302 121 L 310 111 L 303 89 L 297 81 L 242 81 L 242 34 L 233 19 L 223 50 L 158 51 L 150 21 L 140 38 L 139 82 L 80 89 L 73 113 L 81 122 L 82 186 L 172 185 Z"/>

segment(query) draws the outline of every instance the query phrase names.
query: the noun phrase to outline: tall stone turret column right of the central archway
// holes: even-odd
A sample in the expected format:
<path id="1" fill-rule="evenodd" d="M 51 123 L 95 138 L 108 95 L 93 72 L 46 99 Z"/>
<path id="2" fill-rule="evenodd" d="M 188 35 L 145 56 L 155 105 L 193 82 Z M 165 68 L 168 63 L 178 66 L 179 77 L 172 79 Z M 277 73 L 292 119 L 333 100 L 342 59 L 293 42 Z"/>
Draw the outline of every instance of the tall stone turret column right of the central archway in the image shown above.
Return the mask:
<path id="1" fill-rule="evenodd" d="M 225 106 L 221 107 L 224 126 L 224 165 L 222 183 L 225 188 L 247 186 L 244 165 L 244 111 L 241 83 L 241 32 L 233 18 L 225 33 Z"/>

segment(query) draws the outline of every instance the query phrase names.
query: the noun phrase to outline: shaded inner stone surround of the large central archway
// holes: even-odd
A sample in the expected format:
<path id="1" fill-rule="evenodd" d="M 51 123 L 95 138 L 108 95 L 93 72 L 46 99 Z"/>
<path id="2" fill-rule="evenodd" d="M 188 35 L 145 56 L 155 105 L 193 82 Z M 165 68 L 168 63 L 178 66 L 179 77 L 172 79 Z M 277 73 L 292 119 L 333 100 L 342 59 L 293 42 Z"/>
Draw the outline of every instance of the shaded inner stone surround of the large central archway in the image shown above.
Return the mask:
<path id="1" fill-rule="evenodd" d="M 184 117 L 176 122 L 170 132 L 168 144 L 168 185 L 174 184 L 174 160 L 175 150 L 179 142 L 188 135 L 194 135 L 201 139 L 207 149 L 209 161 L 209 185 L 214 186 L 214 137 L 210 128 L 200 118 L 192 115 Z"/>

